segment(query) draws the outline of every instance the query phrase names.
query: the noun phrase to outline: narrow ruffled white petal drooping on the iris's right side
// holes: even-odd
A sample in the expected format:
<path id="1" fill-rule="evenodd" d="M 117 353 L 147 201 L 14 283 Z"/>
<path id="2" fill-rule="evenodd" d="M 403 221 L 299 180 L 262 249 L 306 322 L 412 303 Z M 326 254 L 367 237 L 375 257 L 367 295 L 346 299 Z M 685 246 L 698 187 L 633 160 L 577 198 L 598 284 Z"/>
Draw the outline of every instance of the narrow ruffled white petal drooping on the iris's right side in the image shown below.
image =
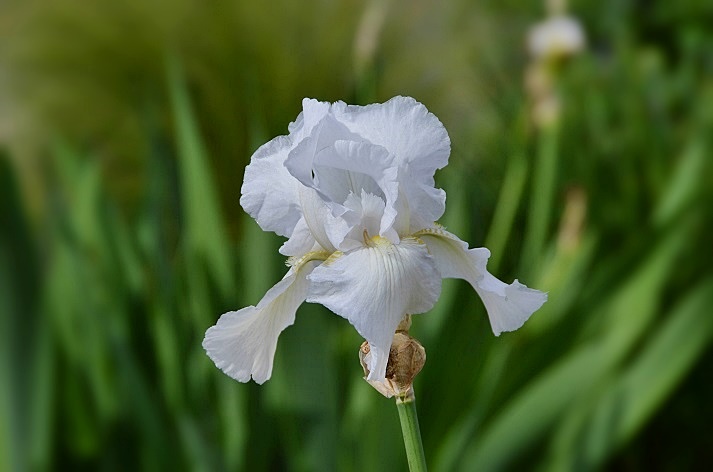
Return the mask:
<path id="1" fill-rule="evenodd" d="M 493 333 L 515 331 L 547 301 L 547 294 L 533 290 L 515 280 L 508 285 L 486 269 L 490 251 L 468 249 L 468 244 L 455 235 L 433 228 L 419 235 L 433 254 L 444 278 L 467 280 L 483 300 Z"/>

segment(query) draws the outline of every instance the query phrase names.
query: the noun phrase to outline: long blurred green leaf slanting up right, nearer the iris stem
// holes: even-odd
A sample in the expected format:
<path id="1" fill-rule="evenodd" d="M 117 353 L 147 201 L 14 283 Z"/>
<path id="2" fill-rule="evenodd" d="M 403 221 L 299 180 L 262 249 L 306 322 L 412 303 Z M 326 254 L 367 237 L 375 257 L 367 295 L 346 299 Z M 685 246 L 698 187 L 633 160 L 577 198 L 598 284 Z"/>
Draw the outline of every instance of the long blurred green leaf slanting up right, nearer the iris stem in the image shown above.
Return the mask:
<path id="1" fill-rule="evenodd" d="M 676 261 L 686 232 L 656 246 L 649 260 L 591 316 L 607 320 L 602 335 L 570 351 L 531 381 L 477 434 L 464 453 L 464 470 L 499 470 L 576 408 L 644 333 L 658 307 L 655 294 Z"/>

